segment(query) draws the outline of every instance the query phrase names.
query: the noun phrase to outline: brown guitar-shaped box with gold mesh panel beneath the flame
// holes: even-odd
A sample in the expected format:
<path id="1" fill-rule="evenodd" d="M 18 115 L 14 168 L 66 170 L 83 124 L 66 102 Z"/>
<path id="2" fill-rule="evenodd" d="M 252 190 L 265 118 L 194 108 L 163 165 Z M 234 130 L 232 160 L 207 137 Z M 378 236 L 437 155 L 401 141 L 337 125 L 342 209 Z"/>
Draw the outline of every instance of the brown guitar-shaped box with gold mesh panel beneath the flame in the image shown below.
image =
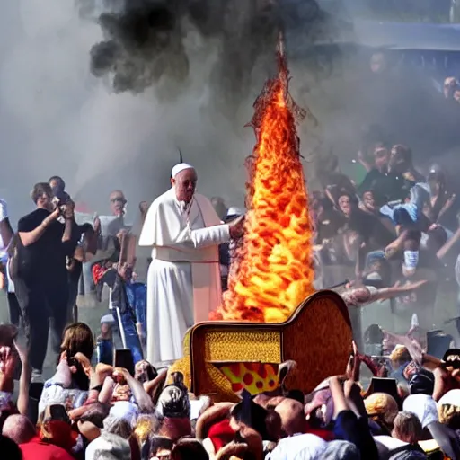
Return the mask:
<path id="1" fill-rule="evenodd" d="M 341 296 L 323 290 L 309 296 L 285 323 L 206 322 L 187 332 L 180 371 L 193 394 L 237 401 L 232 385 L 216 367 L 222 363 L 296 361 L 286 386 L 310 392 L 324 378 L 343 374 L 351 352 L 349 313 Z"/>

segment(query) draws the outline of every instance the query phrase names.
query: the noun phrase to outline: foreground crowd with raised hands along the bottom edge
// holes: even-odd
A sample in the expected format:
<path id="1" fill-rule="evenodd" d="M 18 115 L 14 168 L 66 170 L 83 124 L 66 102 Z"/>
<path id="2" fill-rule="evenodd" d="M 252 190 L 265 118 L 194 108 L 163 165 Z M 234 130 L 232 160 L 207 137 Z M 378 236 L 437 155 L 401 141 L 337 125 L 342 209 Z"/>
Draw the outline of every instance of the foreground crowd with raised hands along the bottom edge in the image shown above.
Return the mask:
<path id="1" fill-rule="evenodd" d="M 84 323 L 66 326 L 56 373 L 37 392 L 27 350 L 11 325 L 0 333 L 0 452 L 9 460 L 460 458 L 460 351 L 430 357 L 411 334 L 386 334 L 386 365 L 354 346 L 343 374 L 311 393 L 280 379 L 270 393 L 226 403 L 190 394 L 181 373 L 143 359 L 93 366 Z M 375 376 L 367 388 L 362 365 Z"/>

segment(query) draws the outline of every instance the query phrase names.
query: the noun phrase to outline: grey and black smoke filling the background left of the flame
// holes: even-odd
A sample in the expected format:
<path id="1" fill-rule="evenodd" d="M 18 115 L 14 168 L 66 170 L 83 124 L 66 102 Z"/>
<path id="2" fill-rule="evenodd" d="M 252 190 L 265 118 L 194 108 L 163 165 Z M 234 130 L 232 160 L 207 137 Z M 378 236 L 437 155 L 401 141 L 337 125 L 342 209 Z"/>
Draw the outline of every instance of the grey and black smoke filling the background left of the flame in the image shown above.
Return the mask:
<path id="1" fill-rule="evenodd" d="M 53 174 L 95 210 L 108 210 L 114 189 L 136 209 L 168 187 L 178 147 L 199 191 L 241 205 L 253 146 L 243 125 L 273 69 L 279 24 L 321 22 L 313 0 L 282 3 L 5 4 L 0 191 L 13 220 L 31 208 L 32 184 Z"/>

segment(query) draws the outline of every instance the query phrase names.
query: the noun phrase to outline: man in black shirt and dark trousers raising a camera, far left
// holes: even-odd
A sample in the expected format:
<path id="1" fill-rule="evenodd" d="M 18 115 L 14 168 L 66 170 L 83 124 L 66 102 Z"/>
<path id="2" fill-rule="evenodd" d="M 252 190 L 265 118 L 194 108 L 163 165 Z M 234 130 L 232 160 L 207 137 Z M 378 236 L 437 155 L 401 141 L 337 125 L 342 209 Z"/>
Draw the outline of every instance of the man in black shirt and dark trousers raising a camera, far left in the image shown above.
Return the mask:
<path id="1" fill-rule="evenodd" d="M 12 277 L 22 310 L 32 381 L 39 382 L 47 353 L 49 326 L 52 346 L 57 353 L 66 326 L 66 258 L 73 256 L 80 234 L 71 199 L 64 203 L 56 199 L 47 182 L 35 184 L 31 198 L 37 208 L 18 223 L 19 241 Z"/>

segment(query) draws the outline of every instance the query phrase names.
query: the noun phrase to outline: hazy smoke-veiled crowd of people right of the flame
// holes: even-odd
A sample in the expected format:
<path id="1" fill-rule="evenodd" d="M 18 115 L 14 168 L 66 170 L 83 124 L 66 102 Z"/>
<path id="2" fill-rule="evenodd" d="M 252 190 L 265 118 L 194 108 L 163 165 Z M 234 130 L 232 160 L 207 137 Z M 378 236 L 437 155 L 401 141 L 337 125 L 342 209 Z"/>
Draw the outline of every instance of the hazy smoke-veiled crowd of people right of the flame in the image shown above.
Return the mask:
<path id="1" fill-rule="evenodd" d="M 349 267 L 353 281 L 342 293 L 349 305 L 394 298 L 431 330 L 438 287 L 459 280 L 458 203 L 447 173 L 438 164 L 420 173 L 410 147 L 387 146 L 375 130 L 358 152 L 361 183 L 336 160 L 324 162 L 323 190 L 311 199 L 318 271 Z"/>

